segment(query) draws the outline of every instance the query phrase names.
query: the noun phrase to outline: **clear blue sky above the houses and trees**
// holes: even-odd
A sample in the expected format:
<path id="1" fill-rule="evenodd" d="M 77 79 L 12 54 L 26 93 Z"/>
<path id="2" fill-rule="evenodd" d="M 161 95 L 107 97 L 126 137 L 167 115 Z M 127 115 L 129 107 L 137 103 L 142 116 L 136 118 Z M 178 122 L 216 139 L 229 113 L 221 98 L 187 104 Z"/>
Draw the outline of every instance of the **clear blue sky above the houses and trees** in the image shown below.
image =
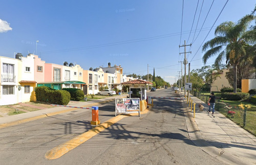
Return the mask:
<path id="1" fill-rule="evenodd" d="M 200 45 L 226 1 L 215 0 L 209 11 L 212 1 L 200 0 L 190 33 L 197 3 L 184 0 L 181 34 L 182 0 L 1 1 L 0 56 L 36 54 L 38 40 L 37 55 L 47 63 L 67 61 L 89 69 L 111 62 L 121 65 L 126 75 L 146 75 L 148 64 L 151 74 L 155 67 L 157 76 L 173 84 L 181 70 L 178 61 L 184 59 L 179 55 L 184 47 L 179 45 L 184 40 L 190 44 L 194 38 L 191 48 L 186 48 L 186 52 L 192 52 L 187 59 L 191 69 L 201 68 Z M 237 22 L 251 13 L 255 4 L 254 0 L 229 0 L 205 41 L 214 37 L 215 27 L 221 22 Z M 210 59 L 207 65 L 213 62 Z"/>

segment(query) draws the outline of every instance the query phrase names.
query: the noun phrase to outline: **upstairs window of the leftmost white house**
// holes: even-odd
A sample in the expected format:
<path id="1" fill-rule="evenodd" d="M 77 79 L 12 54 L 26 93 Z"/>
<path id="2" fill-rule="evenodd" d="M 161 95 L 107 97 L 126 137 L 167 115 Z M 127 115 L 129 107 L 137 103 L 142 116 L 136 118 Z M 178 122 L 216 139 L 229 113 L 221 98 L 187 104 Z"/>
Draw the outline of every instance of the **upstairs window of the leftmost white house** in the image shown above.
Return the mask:
<path id="1" fill-rule="evenodd" d="M 1 77 L 2 82 L 14 82 L 14 64 L 3 63 L 3 74 Z"/>

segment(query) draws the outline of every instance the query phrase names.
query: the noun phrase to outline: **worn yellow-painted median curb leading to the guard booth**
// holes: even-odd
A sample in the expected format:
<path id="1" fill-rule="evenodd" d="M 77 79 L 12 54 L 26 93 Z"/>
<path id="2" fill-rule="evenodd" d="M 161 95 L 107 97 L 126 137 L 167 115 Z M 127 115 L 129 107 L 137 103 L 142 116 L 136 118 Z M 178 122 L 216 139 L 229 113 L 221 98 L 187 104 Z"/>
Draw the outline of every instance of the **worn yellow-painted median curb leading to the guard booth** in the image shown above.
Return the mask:
<path id="1" fill-rule="evenodd" d="M 147 112 L 148 112 L 148 109 L 145 109 L 144 111 L 141 112 L 141 114 L 145 114 Z M 46 153 L 45 157 L 47 159 L 57 159 L 57 158 L 61 157 L 62 155 L 68 153 L 69 151 L 73 150 L 74 148 L 78 147 L 79 145 L 83 144 L 84 142 L 86 142 L 87 140 L 89 140 L 90 138 L 95 136 L 96 134 L 100 133 L 101 131 L 103 131 L 103 130 L 109 128 L 110 126 L 112 126 L 113 124 L 117 123 L 124 117 L 135 116 L 135 115 L 138 115 L 138 113 L 117 115 L 116 117 L 113 117 L 112 119 L 96 126 L 95 128 L 93 128 L 87 132 L 84 132 L 83 134 L 69 140 L 68 142 L 63 143 L 57 147 L 54 147 L 53 149 L 51 149 L 50 151 L 48 151 Z"/>

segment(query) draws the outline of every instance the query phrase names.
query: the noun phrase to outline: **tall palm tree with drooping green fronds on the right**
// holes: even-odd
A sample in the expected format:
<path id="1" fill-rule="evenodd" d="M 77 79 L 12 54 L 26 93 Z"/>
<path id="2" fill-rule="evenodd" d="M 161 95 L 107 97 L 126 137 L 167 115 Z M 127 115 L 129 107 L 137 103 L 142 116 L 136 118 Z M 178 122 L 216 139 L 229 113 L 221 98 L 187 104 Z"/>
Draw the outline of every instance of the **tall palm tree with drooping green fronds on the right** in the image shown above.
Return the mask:
<path id="1" fill-rule="evenodd" d="M 246 15 L 237 24 L 232 21 L 221 23 L 215 30 L 216 37 L 205 42 L 202 48 L 202 51 L 205 52 L 202 58 L 204 64 L 210 57 L 219 53 L 215 60 L 216 66 L 219 66 L 224 58 L 226 58 L 226 64 L 233 66 L 234 92 L 237 92 L 237 65 L 240 59 L 246 57 L 246 45 L 253 45 L 256 41 L 256 30 L 248 30 L 253 19 L 255 19 L 255 16 Z M 208 48 L 209 50 L 207 50 Z"/>

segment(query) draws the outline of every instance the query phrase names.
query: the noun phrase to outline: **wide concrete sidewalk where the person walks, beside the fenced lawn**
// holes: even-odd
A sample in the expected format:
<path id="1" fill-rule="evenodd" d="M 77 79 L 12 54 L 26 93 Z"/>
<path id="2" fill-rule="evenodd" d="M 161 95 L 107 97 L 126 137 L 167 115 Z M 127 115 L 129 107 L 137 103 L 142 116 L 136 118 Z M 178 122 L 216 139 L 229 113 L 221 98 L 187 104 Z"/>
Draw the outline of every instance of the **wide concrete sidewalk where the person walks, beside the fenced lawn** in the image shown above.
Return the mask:
<path id="1" fill-rule="evenodd" d="M 195 145 L 227 164 L 256 164 L 256 137 L 220 112 L 208 113 L 209 106 L 193 95 L 190 98 L 196 103 L 196 117 L 194 119 L 194 111 L 187 108 L 186 122 Z M 205 107 L 203 111 L 199 110 L 199 103 Z M 184 104 L 188 107 L 186 100 Z"/>

